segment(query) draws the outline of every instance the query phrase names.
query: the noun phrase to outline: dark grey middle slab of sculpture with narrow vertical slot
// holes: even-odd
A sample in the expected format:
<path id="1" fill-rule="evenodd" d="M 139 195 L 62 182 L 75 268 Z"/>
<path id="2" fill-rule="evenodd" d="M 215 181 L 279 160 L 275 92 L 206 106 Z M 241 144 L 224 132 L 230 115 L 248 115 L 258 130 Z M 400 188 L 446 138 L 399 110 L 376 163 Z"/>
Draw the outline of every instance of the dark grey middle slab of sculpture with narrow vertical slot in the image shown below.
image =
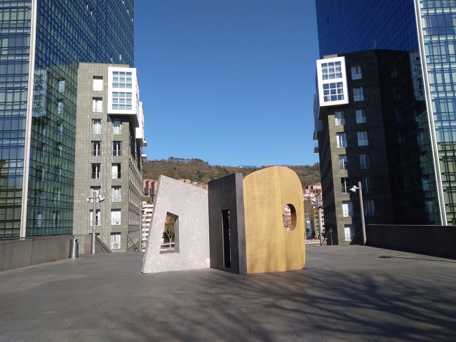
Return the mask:
<path id="1" fill-rule="evenodd" d="M 209 182 L 210 267 L 220 271 L 247 274 L 246 231 L 242 174 L 235 173 Z M 231 267 L 224 264 L 222 211 L 229 210 Z"/>

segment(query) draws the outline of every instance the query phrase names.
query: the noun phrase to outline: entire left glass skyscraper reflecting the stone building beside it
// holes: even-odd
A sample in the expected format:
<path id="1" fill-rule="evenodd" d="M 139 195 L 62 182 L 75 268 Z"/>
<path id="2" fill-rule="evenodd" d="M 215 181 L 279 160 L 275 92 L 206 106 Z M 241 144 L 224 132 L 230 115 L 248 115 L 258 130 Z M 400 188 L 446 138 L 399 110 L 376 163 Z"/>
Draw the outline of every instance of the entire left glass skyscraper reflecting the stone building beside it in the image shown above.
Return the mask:
<path id="1" fill-rule="evenodd" d="M 134 66 L 134 0 L 1 0 L 0 25 L 0 238 L 71 234 L 78 63 Z"/>

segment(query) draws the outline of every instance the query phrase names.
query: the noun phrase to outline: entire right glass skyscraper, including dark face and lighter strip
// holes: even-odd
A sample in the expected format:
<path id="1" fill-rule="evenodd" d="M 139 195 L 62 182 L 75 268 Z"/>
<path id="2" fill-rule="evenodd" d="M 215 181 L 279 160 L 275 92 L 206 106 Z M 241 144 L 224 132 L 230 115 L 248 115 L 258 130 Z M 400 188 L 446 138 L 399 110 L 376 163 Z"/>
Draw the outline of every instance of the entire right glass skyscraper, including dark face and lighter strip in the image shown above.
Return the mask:
<path id="1" fill-rule="evenodd" d="M 316 13 L 321 57 L 376 50 L 394 223 L 455 225 L 456 1 L 316 0 Z"/>

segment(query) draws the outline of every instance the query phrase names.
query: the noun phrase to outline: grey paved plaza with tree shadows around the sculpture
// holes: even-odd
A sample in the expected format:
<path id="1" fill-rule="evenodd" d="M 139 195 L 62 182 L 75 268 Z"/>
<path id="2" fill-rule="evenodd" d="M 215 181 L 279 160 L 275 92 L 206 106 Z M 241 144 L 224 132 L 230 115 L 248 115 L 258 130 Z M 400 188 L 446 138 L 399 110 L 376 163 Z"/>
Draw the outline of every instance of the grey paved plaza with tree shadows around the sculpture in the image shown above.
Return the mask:
<path id="1" fill-rule="evenodd" d="M 0 273 L 0 341 L 456 341 L 456 261 L 308 247 L 301 271 L 143 275 L 142 253 Z"/>

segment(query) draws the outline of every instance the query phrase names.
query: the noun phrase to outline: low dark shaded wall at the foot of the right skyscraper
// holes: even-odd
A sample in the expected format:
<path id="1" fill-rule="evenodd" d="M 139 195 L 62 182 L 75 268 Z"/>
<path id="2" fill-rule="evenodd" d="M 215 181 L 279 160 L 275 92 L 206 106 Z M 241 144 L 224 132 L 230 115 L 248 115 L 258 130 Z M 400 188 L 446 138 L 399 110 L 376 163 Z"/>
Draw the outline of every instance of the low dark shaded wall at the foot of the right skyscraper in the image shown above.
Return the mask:
<path id="1" fill-rule="evenodd" d="M 366 245 L 456 259 L 456 226 L 368 224 Z"/>

